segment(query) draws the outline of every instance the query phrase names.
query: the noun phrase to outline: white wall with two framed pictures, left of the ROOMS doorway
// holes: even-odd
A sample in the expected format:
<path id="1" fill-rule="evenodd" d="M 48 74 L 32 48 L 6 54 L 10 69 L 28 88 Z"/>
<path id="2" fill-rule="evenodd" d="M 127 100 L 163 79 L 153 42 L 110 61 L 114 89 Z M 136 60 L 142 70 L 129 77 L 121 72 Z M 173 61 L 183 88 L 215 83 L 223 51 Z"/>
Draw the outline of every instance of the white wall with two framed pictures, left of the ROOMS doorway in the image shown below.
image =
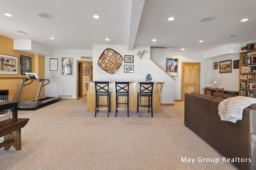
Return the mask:
<path id="1" fill-rule="evenodd" d="M 80 56 L 92 56 L 92 50 L 55 50 L 54 57 L 45 57 L 45 79 L 50 79 L 50 84 L 45 86 L 45 96 L 72 94 L 76 98 L 76 61 L 85 61 Z M 73 75 L 61 75 L 62 57 L 73 58 Z M 50 71 L 51 58 L 58 59 L 58 71 Z"/>

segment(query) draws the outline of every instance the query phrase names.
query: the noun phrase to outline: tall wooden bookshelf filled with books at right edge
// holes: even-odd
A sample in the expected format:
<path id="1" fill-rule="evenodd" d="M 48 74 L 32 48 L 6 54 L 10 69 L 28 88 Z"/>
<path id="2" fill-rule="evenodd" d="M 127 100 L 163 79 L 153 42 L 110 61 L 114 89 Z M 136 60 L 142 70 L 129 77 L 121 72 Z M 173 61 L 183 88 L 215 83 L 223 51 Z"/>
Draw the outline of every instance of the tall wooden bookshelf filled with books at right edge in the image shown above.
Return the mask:
<path id="1" fill-rule="evenodd" d="M 240 52 L 239 95 L 256 98 L 256 49 Z"/>

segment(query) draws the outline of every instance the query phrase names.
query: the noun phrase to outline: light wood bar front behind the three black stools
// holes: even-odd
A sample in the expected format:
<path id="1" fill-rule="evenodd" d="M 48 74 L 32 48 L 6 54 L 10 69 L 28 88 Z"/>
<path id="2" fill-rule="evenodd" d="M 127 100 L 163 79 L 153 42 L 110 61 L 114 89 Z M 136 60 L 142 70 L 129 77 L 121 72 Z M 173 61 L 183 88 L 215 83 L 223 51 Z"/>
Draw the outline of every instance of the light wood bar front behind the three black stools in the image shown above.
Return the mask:
<path id="1" fill-rule="evenodd" d="M 87 89 L 87 111 L 95 111 L 95 84 L 94 82 L 85 81 Z M 164 82 L 154 82 L 153 85 L 153 113 L 161 112 L 161 90 Z M 109 82 L 109 90 L 110 94 L 110 112 L 115 112 L 116 109 L 116 85 L 115 82 Z M 140 83 L 139 82 L 130 82 L 129 84 L 129 112 L 137 112 L 137 92 L 140 91 Z M 118 102 L 123 103 L 126 102 L 126 97 L 118 97 Z M 147 103 L 148 98 L 142 98 L 142 104 Z M 100 103 L 106 104 L 107 98 L 102 97 L 99 99 Z M 118 108 L 124 108 L 126 105 L 120 105 Z M 106 111 L 106 110 L 102 110 Z M 118 110 L 118 112 L 127 110 Z M 146 112 L 147 110 L 142 110 Z"/>

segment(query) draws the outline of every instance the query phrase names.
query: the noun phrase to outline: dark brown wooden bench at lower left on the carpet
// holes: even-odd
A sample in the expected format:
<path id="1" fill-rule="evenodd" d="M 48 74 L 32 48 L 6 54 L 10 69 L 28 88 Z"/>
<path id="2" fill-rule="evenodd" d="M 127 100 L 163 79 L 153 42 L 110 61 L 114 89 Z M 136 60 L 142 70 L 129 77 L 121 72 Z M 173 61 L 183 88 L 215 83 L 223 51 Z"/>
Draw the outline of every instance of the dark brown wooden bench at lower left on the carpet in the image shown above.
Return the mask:
<path id="1" fill-rule="evenodd" d="M 0 143 L 0 148 L 4 150 L 13 146 L 16 150 L 21 150 L 21 128 L 28 123 L 28 118 L 13 118 L 0 121 L 0 137 L 4 136 L 4 142 Z"/>

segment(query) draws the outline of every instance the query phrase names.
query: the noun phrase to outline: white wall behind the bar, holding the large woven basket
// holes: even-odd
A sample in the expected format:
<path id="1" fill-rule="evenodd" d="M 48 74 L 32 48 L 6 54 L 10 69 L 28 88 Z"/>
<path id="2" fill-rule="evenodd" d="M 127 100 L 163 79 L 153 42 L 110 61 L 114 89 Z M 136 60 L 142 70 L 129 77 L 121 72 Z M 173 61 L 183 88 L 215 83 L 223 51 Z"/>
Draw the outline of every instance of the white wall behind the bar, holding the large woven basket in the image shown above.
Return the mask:
<path id="1" fill-rule="evenodd" d="M 98 59 L 102 52 L 107 49 L 111 48 L 115 50 L 117 53 L 122 55 L 133 55 L 134 56 L 134 63 L 124 63 L 120 68 L 114 73 L 110 74 L 100 66 L 98 66 Z M 140 59 L 138 55 L 138 51 L 147 50 L 148 53 Z M 151 74 L 152 81 L 154 82 L 164 82 L 164 86 L 161 92 L 161 103 L 162 104 L 174 104 L 174 88 L 170 88 L 174 86 L 174 80 L 170 78 L 167 74 L 165 74 L 156 64 L 150 61 L 150 47 L 143 46 L 143 47 L 134 47 L 133 51 L 128 51 L 127 46 L 123 45 L 94 45 L 93 46 L 93 81 L 96 78 L 99 78 L 99 81 L 130 81 L 135 82 L 136 78 L 138 82 L 144 81 L 147 74 Z M 127 73 L 124 72 L 124 65 L 131 64 L 134 65 L 134 73 Z"/>

